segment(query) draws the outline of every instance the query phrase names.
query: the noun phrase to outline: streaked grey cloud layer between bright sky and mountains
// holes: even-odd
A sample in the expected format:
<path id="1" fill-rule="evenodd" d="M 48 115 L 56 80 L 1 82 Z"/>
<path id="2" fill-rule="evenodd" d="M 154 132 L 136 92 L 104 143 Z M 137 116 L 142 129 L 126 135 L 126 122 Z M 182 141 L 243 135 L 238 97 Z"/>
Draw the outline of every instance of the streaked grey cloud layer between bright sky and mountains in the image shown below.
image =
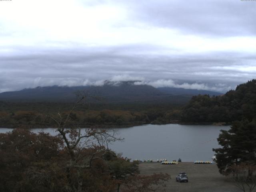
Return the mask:
<path id="1" fill-rule="evenodd" d="M 138 55 L 125 54 L 126 49 L 132 49 L 131 45 L 1 56 L 0 91 L 55 84 L 101 85 L 107 79 L 142 80 L 155 87 L 226 91 L 256 76 L 256 58 L 250 54 Z"/>

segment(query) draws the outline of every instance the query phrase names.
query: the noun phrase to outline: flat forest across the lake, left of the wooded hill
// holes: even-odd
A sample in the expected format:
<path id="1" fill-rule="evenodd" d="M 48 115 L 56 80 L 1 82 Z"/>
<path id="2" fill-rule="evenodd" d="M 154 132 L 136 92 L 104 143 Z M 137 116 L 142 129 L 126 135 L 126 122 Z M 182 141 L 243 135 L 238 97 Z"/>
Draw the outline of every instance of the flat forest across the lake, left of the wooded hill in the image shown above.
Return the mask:
<path id="1" fill-rule="evenodd" d="M 0 127 L 53 127 L 46 114 L 68 112 L 70 103 L 11 103 L 0 102 Z M 72 113 L 80 127 L 128 127 L 141 124 L 166 124 L 180 119 L 180 106 L 171 104 L 88 104 L 78 106 Z"/>

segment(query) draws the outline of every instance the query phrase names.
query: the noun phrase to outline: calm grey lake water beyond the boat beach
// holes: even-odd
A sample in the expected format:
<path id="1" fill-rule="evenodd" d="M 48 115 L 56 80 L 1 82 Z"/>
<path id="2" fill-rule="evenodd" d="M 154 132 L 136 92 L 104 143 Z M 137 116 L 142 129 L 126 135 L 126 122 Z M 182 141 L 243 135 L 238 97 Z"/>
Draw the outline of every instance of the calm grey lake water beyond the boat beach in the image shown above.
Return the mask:
<path id="1" fill-rule="evenodd" d="M 214 155 L 212 148 L 220 147 L 217 138 L 221 129 L 228 130 L 230 126 L 167 124 L 116 128 L 124 141 L 114 142 L 109 148 L 132 160 L 210 161 Z M 0 128 L 2 133 L 11 130 Z M 33 132 L 40 131 L 42 129 L 33 129 Z M 56 134 L 53 128 L 43 131 Z"/>

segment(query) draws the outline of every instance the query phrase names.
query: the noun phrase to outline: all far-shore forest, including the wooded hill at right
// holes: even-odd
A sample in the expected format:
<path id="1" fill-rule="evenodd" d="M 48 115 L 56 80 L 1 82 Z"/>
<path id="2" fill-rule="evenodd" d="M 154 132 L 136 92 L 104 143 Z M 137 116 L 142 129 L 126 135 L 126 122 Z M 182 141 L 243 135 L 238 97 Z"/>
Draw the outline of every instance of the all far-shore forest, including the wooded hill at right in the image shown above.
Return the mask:
<path id="1" fill-rule="evenodd" d="M 68 112 L 67 102 L 0 102 L 0 126 L 35 128 L 54 126 L 48 114 Z M 72 118 L 80 127 L 129 127 L 142 124 L 212 124 L 256 116 L 256 80 L 240 84 L 221 96 L 193 96 L 187 103 L 83 103 Z"/>

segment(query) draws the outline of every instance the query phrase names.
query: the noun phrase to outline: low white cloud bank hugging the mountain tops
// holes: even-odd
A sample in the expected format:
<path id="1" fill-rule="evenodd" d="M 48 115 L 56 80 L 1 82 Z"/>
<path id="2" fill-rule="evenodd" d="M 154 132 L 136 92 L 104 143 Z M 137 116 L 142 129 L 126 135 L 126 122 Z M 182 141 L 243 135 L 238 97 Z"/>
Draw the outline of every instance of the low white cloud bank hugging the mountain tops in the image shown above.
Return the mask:
<path id="1" fill-rule="evenodd" d="M 19 88 L 26 84 L 27 86 L 24 88 L 35 88 L 38 86 L 103 86 L 104 84 L 109 84 L 113 86 L 121 85 L 123 81 L 132 81 L 134 85 L 150 85 L 155 88 L 160 87 L 173 87 L 173 88 L 184 88 L 184 89 L 196 89 L 196 90 L 210 90 L 217 92 L 226 92 L 227 90 L 232 89 L 231 86 L 228 86 L 224 83 L 219 84 L 207 84 L 207 83 L 188 83 L 182 82 L 178 83 L 172 79 L 159 79 L 159 80 L 145 80 L 144 77 L 139 76 L 130 76 L 130 75 L 116 75 L 112 76 L 108 80 L 89 80 L 88 78 L 35 78 L 34 81 L 30 79 L 22 78 L 19 80 L 20 84 L 15 84 L 16 88 L 13 89 L 0 89 L 0 92 L 5 91 L 14 91 L 20 90 Z M 1 83 L 1 81 L 0 81 Z M 10 85 L 12 87 L 14 85 Z"/>

